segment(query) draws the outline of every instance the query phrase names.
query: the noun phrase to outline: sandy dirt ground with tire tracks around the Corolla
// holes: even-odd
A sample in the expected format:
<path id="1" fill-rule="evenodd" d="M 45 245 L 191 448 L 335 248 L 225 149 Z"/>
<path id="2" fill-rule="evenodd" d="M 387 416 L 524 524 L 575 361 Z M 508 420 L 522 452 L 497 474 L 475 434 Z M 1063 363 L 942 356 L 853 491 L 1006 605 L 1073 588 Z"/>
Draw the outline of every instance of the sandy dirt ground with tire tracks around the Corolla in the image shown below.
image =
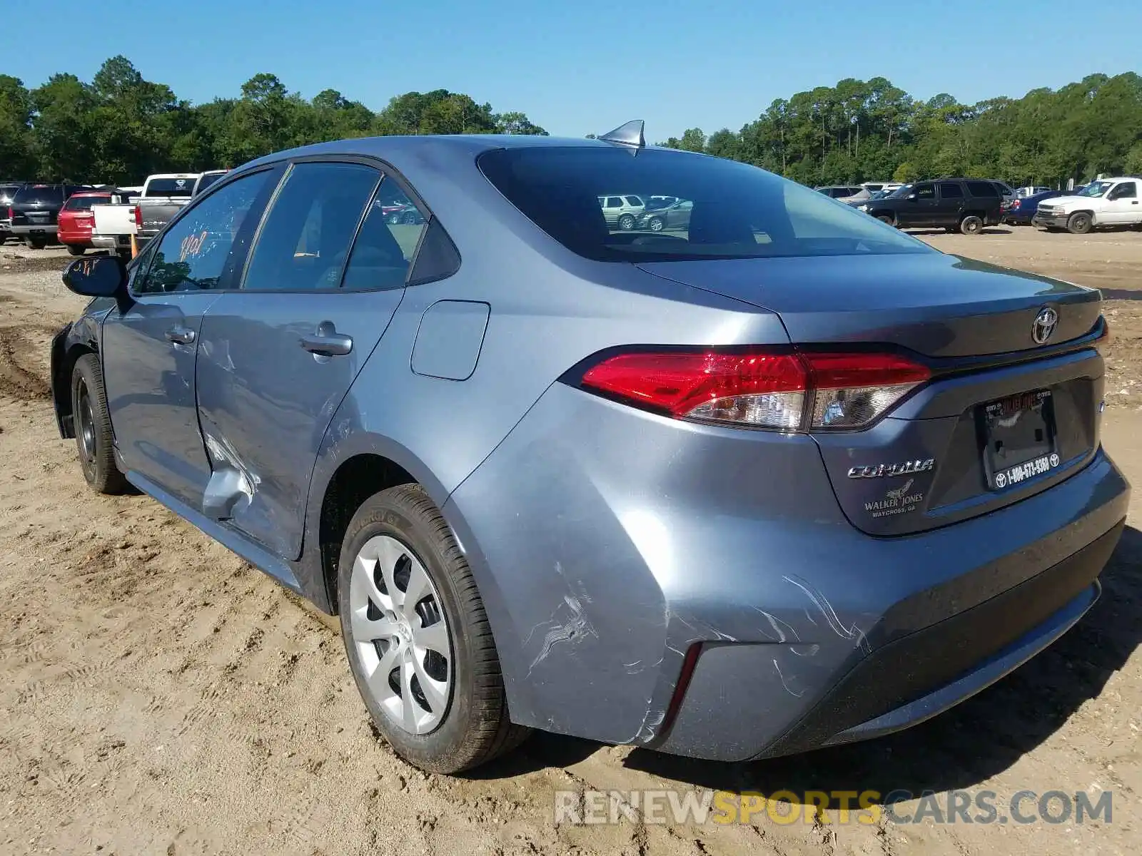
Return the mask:
<path id="1" fill-rule="evenodd" d="M 1103 437 L 1142 484 L 1142 234 L 991 229 L 935 247 L 1104 289 Z M 48 401 L 82 301 L 0 248 L 0 853 L 1136 854 L 1142 508 L 1097 606 L 989 691 L 888 738 L 727 766 L 537 735 L 471 777 L 370 729 L 328 622 L 145 496 L 89 492 Z M 1110 823 L 556 825 L 557 790 L 1113 793 Z M 909 813 L 916 803 L 906 803 Z"/>

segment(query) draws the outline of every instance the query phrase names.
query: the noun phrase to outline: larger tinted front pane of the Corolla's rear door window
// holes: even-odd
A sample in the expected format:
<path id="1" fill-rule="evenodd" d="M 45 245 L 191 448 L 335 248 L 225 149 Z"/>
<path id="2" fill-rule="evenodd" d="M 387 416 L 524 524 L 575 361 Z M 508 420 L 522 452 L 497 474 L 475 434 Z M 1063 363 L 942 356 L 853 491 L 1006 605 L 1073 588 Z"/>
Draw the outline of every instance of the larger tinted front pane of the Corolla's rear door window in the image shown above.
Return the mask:
<path id="1" fill-rule="evenodd" d="M 359 163 L 295 164 L 262 224 L 242 288 L 340 288 L 349 244 L 379 180 L 377 170 Z"/>

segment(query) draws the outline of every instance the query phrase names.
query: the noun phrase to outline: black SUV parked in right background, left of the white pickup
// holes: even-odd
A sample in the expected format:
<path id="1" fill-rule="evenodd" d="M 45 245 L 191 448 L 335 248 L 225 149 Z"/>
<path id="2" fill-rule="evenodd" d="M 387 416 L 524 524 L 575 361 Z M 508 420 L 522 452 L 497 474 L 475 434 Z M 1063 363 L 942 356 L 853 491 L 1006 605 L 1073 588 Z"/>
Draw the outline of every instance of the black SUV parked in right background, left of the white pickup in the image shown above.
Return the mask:
<path id="1" fill-rule="evenodd" d="M 982 178 L 940 178 L 917 181 L 856 208 L 898 228 L 942 226 L 978 235 L 984 226 L 999 224 L 1003 192 L 997 181 Z"/>

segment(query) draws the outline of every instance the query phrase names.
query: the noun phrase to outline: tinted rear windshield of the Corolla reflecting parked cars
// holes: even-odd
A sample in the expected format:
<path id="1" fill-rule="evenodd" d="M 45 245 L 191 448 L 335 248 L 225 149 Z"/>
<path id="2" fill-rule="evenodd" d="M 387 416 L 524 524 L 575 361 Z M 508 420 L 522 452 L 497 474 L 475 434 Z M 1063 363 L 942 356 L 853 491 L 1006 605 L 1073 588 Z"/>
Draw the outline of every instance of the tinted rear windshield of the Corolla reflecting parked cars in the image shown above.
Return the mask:
<path id="1" fill-rule="evenodd" d="M 600 261 L 682 261 L 788 256 L 934 252 L 920 241 L 804 185 L 735 161 L 646 148 L 499 148 L 484 176 L 569 250 Z M 690 202 L 653 231 L 643 213 L 605 215 L 614 187 Z M 659 219 L 660 218 L 656 218 Z"/>

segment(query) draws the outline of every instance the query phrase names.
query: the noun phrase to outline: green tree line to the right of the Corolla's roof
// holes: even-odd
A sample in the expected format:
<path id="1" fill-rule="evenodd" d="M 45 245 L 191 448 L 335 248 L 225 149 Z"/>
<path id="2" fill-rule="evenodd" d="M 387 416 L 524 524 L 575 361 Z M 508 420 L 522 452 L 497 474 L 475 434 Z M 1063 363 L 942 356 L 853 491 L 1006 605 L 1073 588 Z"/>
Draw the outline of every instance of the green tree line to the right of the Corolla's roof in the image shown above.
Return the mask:
<path id="1" fill-rule="evenodd" d="M 778 98 L 740 131 L 691 128 L 665 145 L 754 163 L 809 185 L 964 176 L 1065 185 L 1142 172 L 1142 78 L 1091 74 L 1057 90 L 960 104 L 885 78 Z"/>

